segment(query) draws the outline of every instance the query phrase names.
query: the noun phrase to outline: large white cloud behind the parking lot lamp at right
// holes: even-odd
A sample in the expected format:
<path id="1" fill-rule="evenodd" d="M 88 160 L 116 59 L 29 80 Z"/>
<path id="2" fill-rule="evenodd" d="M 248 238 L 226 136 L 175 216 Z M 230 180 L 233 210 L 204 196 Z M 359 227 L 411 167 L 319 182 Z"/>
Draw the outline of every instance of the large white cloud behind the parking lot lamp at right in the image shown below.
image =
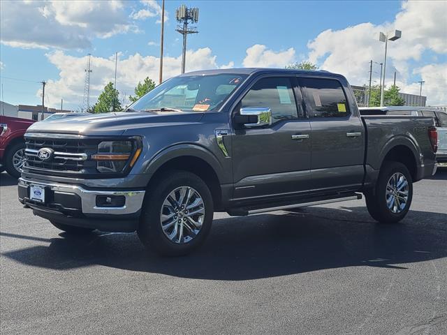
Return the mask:
<path id="1" fill-rule="evenodd" d="M 420 63 L 426 51 L 438 54 L 447 53 L 447 1 L 408 1 L 402 2 L 402 8 L 393 22 L 380 25 L 372 23 L 357 24 L 340 30 L 328 29 L 309 41 L 309 61 L 325 70 L 345 75 L 351 84 L 365 84 L 369 79 L 369 61 L 383 63 L 384 43 L 379 42 L 380 31 L 402 31 L 402 38 L 388 42 L 386 64 L 386 85 L 393 83 L 397 71 L 397 82 L 401 91 L 416 93 L 411 83 L 411 75 L 419 74 L 423 80 L 438 80 L 433 86 L 425 86 L 428 103 L 441 101 L 447 103 L 437 85 L 445 87 L 446 69 L 443 64 L 420 66 L 412 70 L 414 62 Z M 444 67 L 443 67 L 444 66 Z M 434 75 L 430 70 L 437 70 L 444 75 Z M 377 72 L 380 68 L 376 68 Z M 373 73 L 379 81 L 379 75 Z M 443 80 L 444 81 L 439 81 Z M 411 89 L 411 92 L 408 91 Z M 419 93 L 419 91 L 417 91 Z M 442 98 L 444 96 L 444 98 Z"/>

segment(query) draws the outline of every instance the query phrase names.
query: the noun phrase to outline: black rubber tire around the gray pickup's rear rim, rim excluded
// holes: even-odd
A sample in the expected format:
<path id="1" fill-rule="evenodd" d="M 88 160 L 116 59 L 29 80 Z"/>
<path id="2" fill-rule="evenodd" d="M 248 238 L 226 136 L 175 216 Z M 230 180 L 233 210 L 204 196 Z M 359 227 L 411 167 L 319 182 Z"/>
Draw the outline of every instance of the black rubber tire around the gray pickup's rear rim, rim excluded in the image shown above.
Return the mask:
<path id="1" fill-rule="evenodd" d="M 395 174 L 402 174 L 408 182 L 408 198 L 402 209 L 394 212 L 387 204 L 387 185 Z M 383 164 L 377 179 L 376 187 L 365 192 L 366 205 L 369 214 L 380 223 L 398 223 L 408 213 L 413 199 L 413 181 L 406 166 L 399 162 L 386 162 Z"/>

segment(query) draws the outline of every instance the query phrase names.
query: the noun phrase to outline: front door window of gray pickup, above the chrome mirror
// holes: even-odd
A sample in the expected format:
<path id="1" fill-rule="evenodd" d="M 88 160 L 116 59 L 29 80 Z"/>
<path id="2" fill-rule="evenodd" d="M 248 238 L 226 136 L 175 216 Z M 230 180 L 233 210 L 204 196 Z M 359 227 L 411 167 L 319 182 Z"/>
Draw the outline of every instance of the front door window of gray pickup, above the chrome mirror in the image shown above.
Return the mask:
<path id="1" fill-rule="evenodd" d="M 241 107 L 268 107 L 273 122 L 296 119 L 298 111 L 291 80 L 289 78 L 264 78 L 242 98 Z"/>

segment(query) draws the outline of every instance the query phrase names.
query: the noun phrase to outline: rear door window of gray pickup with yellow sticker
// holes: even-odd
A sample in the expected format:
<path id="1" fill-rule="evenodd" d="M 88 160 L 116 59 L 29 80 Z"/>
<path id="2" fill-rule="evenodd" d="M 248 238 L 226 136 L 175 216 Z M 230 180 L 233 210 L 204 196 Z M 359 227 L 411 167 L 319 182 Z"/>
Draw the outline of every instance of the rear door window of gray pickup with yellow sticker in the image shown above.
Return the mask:
<path id="1" fill-rule="evenodd" d="M 333 79 L 300 78 L 310 117 L 347 117 L 349 106 L 342 84 Z"/>

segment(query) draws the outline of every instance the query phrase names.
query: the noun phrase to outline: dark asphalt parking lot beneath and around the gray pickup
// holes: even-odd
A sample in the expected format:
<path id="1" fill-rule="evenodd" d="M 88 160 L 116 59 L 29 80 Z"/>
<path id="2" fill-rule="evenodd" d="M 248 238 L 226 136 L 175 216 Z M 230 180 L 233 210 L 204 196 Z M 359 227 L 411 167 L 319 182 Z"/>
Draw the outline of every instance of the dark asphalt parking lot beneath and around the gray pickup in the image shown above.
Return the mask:
<path id="1" fill-rule="evenodd" d="M 1 334 L 447 334 L 447 170 L 397 225 L 363 200 L 214 217 L 200 251 L 68 237 L 1 174 Z"/>

